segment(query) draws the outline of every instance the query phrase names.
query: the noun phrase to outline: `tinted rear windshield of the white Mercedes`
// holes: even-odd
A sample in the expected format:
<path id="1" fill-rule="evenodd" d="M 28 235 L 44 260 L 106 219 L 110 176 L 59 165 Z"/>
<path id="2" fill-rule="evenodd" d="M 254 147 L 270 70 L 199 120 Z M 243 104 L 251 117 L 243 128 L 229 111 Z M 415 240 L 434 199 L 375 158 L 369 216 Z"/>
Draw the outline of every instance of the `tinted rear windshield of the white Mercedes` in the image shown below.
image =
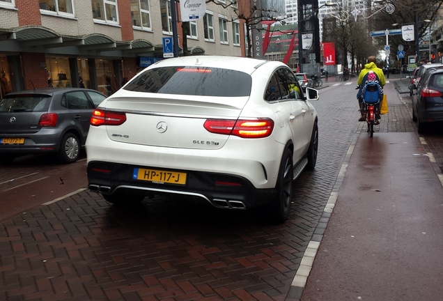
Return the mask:
<path id="1" fill-rule="evenodd" d="M 251 76 L 222 68 L 174 66 L 146 70 L 127 84 L 128 91 L 200 95 L 249 96 Z"/>

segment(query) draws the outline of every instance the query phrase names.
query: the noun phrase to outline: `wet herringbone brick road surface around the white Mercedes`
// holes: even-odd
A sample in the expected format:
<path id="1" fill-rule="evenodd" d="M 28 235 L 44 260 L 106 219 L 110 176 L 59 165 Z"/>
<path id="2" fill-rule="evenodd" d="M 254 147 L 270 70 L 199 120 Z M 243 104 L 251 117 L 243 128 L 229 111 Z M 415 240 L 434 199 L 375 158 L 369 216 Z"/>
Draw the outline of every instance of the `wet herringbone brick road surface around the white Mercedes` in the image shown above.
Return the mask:
<path id="1" fill-rule="evenodd" d="M 322 148 L 316 169 L 294 183 L 288 222 L 162 196 L 123 210 L 85 190 L 1 224 L 0 300 L 291 300 L 290 284 L 325 230 L 325 206 L 363 126 L 355 91 L 341 91 L 314 103 Z M 407 101 L 389 107 L 380 131 L 414 131 Z"/>

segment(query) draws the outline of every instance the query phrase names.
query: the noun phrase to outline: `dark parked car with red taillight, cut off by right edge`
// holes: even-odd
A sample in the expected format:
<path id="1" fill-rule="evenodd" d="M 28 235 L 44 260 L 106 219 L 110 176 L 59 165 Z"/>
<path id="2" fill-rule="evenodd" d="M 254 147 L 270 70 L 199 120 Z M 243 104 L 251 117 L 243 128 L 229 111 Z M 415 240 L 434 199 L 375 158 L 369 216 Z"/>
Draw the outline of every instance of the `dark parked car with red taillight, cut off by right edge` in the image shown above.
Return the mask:
<path id="1" fill-rule="evenodd" d="M 417 93 L 412 96 L 412 120 L 418 123 L 419 133 L 423 133 L 427 125 L 443 121 L 442 69 L 429 68 L 421 76 Z"/>

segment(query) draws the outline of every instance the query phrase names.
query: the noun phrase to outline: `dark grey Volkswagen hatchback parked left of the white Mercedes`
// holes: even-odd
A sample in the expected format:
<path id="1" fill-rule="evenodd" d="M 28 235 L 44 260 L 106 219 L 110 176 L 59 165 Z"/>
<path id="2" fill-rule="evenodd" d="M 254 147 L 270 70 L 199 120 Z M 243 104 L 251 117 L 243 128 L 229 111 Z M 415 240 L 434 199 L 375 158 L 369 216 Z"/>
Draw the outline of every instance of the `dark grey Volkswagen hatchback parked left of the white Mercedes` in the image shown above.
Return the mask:
<path id="1" fill-rule="evenodd" d="M 85 88 L 44 88 L 0 100 L 0 162 L 25 154 L 56 153 L 75 162 L 84 147 L 93 109 L 106 96 Z"/>

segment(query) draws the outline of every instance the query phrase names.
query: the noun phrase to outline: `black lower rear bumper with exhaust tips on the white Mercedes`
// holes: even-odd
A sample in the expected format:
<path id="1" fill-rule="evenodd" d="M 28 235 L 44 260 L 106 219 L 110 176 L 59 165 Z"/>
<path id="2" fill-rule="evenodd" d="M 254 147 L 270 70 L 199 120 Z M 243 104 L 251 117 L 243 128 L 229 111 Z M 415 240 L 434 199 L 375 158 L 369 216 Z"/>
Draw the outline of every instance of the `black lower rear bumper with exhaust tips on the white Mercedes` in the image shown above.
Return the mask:
<path id="1" fill-rule="evenodd" d="M 185 185 L 134 180 L 132 176 L 137 167 L 130 164 L 88 162 L 88 189 L 101 194 L 112 194 L 117 190 L 138 190 L 146 192 L 146 195 L 153 192 L 182 194 L 203 199 L 217 208 L 233 209 L 261 206 L 272 201 L 276 195 L 275 189 L 257 189 L 241 176 L 223 173 L 185 171 Z"/>

